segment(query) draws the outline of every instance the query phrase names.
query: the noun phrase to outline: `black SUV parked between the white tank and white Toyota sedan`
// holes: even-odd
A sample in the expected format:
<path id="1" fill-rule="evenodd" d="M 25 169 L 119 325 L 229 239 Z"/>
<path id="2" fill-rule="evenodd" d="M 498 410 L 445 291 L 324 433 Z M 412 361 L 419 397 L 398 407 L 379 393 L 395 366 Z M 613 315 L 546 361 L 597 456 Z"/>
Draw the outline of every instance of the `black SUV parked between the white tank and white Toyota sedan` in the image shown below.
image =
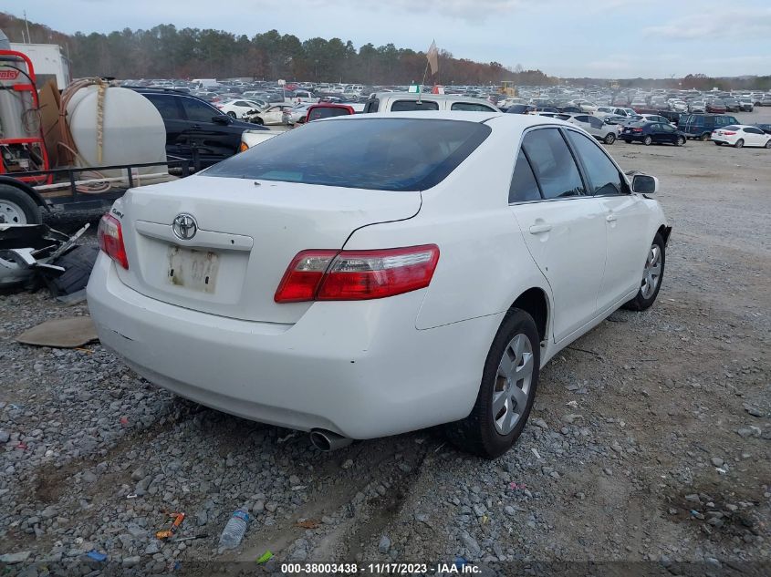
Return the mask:
<path id="1" fill-rule="evenodd" d="M 233 156 L 244 130 L 267 130 L 230 118 L 201 98 L 171 88 L 126 87 L 158 108 L 166 125 L 166 154 L 191 160 L 195 170 Z"/>

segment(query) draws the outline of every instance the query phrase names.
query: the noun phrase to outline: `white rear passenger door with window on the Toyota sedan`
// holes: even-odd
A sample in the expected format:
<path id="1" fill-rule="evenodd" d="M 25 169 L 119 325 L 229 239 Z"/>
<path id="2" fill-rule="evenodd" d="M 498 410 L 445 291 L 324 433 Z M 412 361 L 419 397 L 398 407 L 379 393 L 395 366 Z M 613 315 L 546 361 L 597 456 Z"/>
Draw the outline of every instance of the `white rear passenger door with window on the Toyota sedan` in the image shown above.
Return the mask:
<path id="1" fill-rule="evenodd" d="M 597 314 L 605 268 L 605 211 L 586 193 L 576 160 L 557 128 L 528 131 L 517 158 L 511 211 L 554 296 L 560 341 Z"/>

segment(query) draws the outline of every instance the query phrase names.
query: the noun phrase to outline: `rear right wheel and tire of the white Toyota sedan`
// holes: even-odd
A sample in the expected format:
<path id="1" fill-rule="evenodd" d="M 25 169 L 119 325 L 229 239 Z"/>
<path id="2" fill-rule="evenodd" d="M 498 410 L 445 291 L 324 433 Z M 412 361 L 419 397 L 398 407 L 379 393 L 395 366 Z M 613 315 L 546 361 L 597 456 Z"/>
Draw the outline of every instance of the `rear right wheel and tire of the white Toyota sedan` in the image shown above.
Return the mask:
<path id="1" fill-rule="evenodd" d="M 514 445 L 536 398 L 541 362 L 539 340 L 536 322 L 530 314 L 516 308 L 506 313 L 484 361 L 474 408 L 468 417 L 443 427 L 453 445 L 485 459 L 500 457 Z M 507 367 L 514 371 L 516 380 L 506 371 Z M 511 393 L 515 389 L 519 391 L 516 395 Z M 520 399 L 519 403 L 515 397 Z M 496 418 L 494 407 L 499 404 Z"/>

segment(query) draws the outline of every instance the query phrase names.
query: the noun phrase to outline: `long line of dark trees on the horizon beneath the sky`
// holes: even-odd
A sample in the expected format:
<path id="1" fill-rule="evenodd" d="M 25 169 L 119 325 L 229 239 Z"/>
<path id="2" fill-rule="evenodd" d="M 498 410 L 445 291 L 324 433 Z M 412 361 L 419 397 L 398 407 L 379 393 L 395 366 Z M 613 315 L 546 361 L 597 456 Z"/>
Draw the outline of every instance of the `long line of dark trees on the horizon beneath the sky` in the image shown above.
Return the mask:
<path id="1" fill-rule="evenodd" d="M 0 13 L 0 29 L 12 42 L 26 35 L 24 20 Z M 279 34 L 276 30 L 254 36 L 222 30 L 153 26 L 149 30 L 124 28 L 109 34 L 78 32 L 66 35 L 48 26 L 29 23 L 31 42 L 65 48 L 73 77 L 193 78 L 250 77 L 258 80 L 350 82 L 366 85 L 421 82 L 426 70 L 424 52 L 393 44 L 357 48 L 340 38 L 310 38 Z M 513 80 L 523 85 L 553 85 L 558 80 L 540 70 L 512 70 L 498 62 L 474 62 L 439 53 L 439 72 L 426 82 L 438 84 L 499 84 Z"/>

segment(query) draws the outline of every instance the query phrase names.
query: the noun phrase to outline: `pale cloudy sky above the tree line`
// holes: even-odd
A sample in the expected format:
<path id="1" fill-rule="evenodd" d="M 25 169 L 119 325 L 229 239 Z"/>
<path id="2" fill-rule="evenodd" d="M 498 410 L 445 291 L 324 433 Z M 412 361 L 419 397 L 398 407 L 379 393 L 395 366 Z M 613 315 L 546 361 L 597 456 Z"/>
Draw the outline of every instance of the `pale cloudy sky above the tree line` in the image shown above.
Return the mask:
<path id="1" fill-rule="evenodd" d="M 561 77 L 771 74 L 770 0 L 0 0 L 66 33 L 157 24 L 426 50 Z"/>

